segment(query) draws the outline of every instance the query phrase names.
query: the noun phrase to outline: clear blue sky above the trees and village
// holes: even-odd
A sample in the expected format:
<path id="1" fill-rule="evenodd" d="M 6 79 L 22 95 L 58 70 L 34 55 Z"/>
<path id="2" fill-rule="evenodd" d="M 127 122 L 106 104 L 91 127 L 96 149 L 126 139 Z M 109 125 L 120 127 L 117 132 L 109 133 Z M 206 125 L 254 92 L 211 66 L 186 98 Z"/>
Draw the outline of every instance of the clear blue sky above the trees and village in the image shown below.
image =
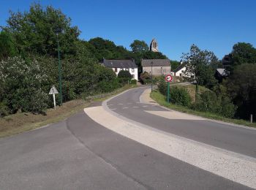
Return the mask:
<path id="1" fill-rule="evenodd" d="M 34 1 L 0 0 L 0 26 L 6 25 L 9 10 L 29 10 Z M 148 44 L 154 37 L 168 58 L 180 60 L 192 44 L 213 51 L 218 58 L 230 53 L 236 42 L 256 47 L 256 1 L 254 0 L 91 0 L 51 1 L 72 18 L 81 39 L 102 37 L 116 45 L 129 45 L 134 39 Z"/>

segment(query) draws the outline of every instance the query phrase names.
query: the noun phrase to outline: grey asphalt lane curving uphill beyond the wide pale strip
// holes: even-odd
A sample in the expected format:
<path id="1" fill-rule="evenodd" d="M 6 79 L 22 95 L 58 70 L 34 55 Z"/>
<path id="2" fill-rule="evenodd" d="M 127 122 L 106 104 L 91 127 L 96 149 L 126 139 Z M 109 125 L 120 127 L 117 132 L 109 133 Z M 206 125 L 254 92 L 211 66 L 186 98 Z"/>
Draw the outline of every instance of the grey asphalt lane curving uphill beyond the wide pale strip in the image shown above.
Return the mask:
<path id="1" fill-rule="evenodd" d="M 256 158 L 256 130 L 206 120 L 167 119 L 147 113 L 165 108 L 140 103 L 145 88 L 135 88 L 108 102 L 110 110 L 125 118 L 171 134 L 203 142 L 228 151 Z M 168 110 L 169 111 L 169 110 Z"/>

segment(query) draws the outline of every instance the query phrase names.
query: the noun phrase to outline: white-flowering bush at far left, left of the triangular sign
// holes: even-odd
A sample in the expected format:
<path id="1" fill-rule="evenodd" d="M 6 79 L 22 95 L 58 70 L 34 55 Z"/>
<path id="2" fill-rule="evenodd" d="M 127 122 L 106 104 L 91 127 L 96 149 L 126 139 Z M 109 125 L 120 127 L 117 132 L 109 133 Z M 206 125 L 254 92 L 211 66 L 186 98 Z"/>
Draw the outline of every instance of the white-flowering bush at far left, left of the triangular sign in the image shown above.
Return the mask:
<path id="1" fill-rule="evenodd" d="M 20 57 L 7 58 L 0 62 L 0 81 L 4 92 L 0 102 L 6 102 L 4 105 L 8 106 L 10 113 L 17 110 L 43 113 L 48 107 L 48 94 L 42 90 L 47 80 L 48 76 L 38 61 L 27 63 Z"/>

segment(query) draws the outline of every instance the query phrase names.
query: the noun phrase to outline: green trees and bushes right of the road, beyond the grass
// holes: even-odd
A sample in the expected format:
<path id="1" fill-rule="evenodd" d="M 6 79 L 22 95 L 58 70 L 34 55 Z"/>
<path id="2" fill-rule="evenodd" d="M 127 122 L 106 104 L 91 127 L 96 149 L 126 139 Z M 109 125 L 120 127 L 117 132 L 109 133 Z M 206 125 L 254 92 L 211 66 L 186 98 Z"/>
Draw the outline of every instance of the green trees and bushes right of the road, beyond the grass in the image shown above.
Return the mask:
<path id="1" fill-rule="evenodd" d="M 186 90 L 177 87 L 171 89 L 170 101 L 227 118 L 249 120 L 251 114 L 256 116 L 255 47 L 238 42 L 233 45 L 232 52 L 219 61 L 213 52 L 192 45 L 189 53 L 183 53 L 181 58 L 187 64 L 184 77 L 196 86 L 195 102 L 189 99 Z M 216 75 L 217 68 L 225 68 L 222 76 Z M 199 94 L 198 86 L 205 86 L 211 91 Z M 159 90 L 166 94 L 164 81 L 159 83 Z"/>

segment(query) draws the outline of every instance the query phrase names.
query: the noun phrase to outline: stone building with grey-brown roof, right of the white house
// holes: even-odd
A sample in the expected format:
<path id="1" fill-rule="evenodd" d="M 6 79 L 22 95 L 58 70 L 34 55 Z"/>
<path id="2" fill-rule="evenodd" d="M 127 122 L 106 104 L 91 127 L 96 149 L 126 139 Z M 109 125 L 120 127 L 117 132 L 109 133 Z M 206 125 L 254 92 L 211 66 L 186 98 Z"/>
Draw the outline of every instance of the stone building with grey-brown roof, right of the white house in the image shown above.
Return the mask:
<path id="1" fill-rule="evenodd" d="M 171 66 L 169 59 L 142 59 L 141 66 L 143 72 L 148 72 L 152 75 L 167 75 L 170 74 Z"/>

